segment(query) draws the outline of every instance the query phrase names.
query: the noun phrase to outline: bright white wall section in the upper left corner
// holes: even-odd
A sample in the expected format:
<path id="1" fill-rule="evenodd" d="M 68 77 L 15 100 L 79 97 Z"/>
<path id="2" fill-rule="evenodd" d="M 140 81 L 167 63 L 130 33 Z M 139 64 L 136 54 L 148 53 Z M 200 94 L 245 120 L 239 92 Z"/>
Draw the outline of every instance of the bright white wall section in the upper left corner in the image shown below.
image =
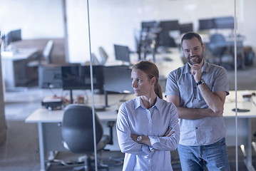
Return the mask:
<path id="1" fill-rule="evenodd" d="M 61 0 L 0 0 L 0 31 L 21 28 L 23 39 L 63 38 Z"/>

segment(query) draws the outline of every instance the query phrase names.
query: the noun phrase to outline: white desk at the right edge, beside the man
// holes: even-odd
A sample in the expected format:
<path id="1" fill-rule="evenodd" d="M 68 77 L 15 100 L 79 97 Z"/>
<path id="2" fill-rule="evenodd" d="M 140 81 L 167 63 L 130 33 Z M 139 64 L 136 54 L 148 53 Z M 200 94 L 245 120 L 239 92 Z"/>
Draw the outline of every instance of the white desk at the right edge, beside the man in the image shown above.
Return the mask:
<path id="1" fill-rule="evenodd" d="M 237 145 L 241 145 L 241 150 L 245 155 L 245 165 L 247 170 L 255 170 L 252 166 L 252 118 L 256 118 L 256 106 L 250 101 L 242 99 L 243 90 L 237 91 L 237 108 L 249 109 L 249 112 L 237 112 Z M 255 92 L 255 91 L 250 91 Z M 227 129 L 227 146 L 235 146 L 235 91 L 230 91 L 227 95 L 224 106 L 224 118 Z"/>

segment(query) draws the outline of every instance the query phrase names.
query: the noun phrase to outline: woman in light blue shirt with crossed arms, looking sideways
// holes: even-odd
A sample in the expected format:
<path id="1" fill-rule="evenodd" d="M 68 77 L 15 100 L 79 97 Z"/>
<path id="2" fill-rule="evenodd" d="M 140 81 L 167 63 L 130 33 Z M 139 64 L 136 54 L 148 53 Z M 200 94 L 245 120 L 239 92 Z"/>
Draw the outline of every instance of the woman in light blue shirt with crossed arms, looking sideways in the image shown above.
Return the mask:
<path id="1" fill-rule="evenodd" d="M 116 125 L 119 146 L 126 153 L 123 170 L 173 170 L 170 150 L 180 140 L 177 109 L 162 99 L 154 63 L 135 64 L 131 78 L 137 98 L 121 105 Z"/>

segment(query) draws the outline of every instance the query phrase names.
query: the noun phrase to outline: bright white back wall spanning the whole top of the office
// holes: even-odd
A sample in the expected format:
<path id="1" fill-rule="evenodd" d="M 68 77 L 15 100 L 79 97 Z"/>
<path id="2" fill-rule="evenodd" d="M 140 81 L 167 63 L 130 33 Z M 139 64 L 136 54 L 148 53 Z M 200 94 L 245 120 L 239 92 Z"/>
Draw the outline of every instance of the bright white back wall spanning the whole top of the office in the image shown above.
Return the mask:
<path id="1" fill-rule="evenodd" d="M 64 36 L 62 0 L 0 0 L 0 31 L 22 28 L 23 38 Z M 71 62 L 89 60 L 86 0 L 66 0 Z M 254 0 L 237 1 L 238 33 L 253 46 L 256 24 Z M 232 16 L 234 0 L 89 0 L 92 52 L 103 46 L 113 58 L 113 43 L 134 47 L 133 33 L 141 21 L 178 19 L 181 24 L 213 16 Z"/>

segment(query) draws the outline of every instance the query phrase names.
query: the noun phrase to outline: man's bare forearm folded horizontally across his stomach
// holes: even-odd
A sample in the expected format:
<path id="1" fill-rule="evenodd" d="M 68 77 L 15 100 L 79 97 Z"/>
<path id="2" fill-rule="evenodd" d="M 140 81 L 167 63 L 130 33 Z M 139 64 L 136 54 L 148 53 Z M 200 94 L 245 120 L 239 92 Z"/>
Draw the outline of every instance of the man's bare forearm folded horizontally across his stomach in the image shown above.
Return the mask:
<path id="1" fill-rule="evenodd" d="M 217 117 L 221 116 L 222 113 L 215 113 L 213 110 L 210 108 L 184 108 L 180 107 L 180 98 L 178 95 L 167 95 L 166 100 L 168 102 L 174 103 L 175 106 L 178 109 L 178 115 L 179 118 L 182 119 L 189 119 L 189 120 L 194 120 L 194 119 L 200 119 L 200 118 L 205 118 L 205 117 Z"/>

